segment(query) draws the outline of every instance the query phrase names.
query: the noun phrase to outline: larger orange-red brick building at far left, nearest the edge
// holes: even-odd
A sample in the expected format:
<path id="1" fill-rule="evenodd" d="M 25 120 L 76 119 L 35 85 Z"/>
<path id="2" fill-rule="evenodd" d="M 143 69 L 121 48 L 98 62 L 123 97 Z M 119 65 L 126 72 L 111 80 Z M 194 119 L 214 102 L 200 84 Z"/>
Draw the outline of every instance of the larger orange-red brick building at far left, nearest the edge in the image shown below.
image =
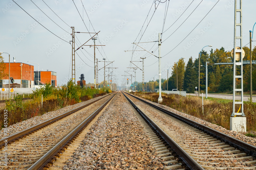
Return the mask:
<path id="1" fill-rule="evenodd" d="M 9 74 L 9 63 L 4 63 L 6 69 L 4 73 Z M 1 70 L 1 69 L 0 69 Z M 34 66 L 25 63 L 10 63 L 10 77 L 13 77 L 15 85 L 10 82 L 10 87 L 28 88 L 34 85 Z M 2 86 L 5 87 L 9 84 L 9 77 L 4 77 Z M 0 82 L 1 84 L 1 82 Z M 7 87 L 7 86 L 6 86 Z"/>

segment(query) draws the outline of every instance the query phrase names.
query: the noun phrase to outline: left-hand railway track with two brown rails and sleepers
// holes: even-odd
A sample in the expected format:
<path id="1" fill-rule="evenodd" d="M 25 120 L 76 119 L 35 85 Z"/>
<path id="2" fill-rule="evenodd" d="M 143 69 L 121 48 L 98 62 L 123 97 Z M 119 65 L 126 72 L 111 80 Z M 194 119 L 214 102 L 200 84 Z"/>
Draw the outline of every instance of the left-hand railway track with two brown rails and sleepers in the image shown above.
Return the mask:
<path id="1" fill-rule="evenodd" d="M 103 109 L 115 94 L 102 97 L 84 106 L 56 116 L 39 125 L 10 135 L 8 140 L 8 166 L 3 166 L 4 141 L 0 140 L 1 169 L 42 169 L 56 160 L 70 145 L 88 122 Z"/>

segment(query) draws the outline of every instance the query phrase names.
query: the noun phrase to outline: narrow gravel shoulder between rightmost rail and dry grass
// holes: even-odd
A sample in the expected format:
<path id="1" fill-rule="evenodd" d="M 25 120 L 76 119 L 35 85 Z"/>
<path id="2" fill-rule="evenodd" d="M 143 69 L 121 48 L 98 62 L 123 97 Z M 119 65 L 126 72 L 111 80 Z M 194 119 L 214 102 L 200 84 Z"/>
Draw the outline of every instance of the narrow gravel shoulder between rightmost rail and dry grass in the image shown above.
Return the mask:
<path id="1" fill-rule="evenodd" d="M 136 96 L 136 97 L 138 97 L 138 96 Z M 141 97 L 139 97 L 139 98 L 141 98 Z M 143 98 L 141 98 L 141 99 L 143 99 Z M 146 99 L 143 99 L 143 100 L 146 100 Z M 224 127 L 221 127 L 221 126 L 212 124 L 212 123 L 207 122 L 207 121 L 205 121 L 205 120 L 199 119 L 199 118 L 197 118 L 197 117 L 195 117 L 195 116 L 191 116 L 191 115 L 188 115 L 188 114 L 186 114 L 186 113 L 179 112 L 179 111 L 177 111 L 177 110 L 175 110 L 175 109 L 172 109 L 172 108 L 170 108 L 170 107 L 167 107 L 167 106 L 165 106 L 165 105 L 158 104 L 158 103 L 152 102 L 152 101 L 150 101 L 150 100 L 146 100 L 146 101 L 151 102 L 151 103 L 153 103 L 153 104 L 155 104 L 155 105 L 157 105 L 157 106 L 159 106 L 159 107 L 161 107 L 161 108 L 164 108 L 164 109 L 166 109 L 166 110 L 172 111 L 172 112 L 174 112 L 174 113 L 176 113 L 176 114 L 179 114 L 179 115 L 181 115 L 181 116 L 184 116 L 184 117 L 186 117 L 186 118 L 188 118 L 188 119 L 190 119 L 190 120 L 193 120 L 193 121 L 195 121 L 195 122 L 198 122 L 198 123 L 200 123 L 200 124 L 202 124 L 202 125 L 205 125 L 205 126 L 208 126 L 208 127 L 212 128 L 212 129 L 218 130 L 219 132 L 222 132 L 222 133 L 224 133 L 224 134 L 227 134 L 227 135 L 229 135 L 229 136 L 232 136 L 232 137 L 234 137 L 234 138 L 236 138 L 236 139 L 239 139 L 239 140 L 241 140 L 241 141 L 244 141 L 244 142 L 246 142 L 246 143 L 249 143 L 250 145 L 256 146 L 256 139 L 255 139 L 255 138 L 245 136 L 244 134 L 235 132 L 235 131 L 233 131 L 233 130 L 227 130 L 227 129 L 224 128 Z"/>

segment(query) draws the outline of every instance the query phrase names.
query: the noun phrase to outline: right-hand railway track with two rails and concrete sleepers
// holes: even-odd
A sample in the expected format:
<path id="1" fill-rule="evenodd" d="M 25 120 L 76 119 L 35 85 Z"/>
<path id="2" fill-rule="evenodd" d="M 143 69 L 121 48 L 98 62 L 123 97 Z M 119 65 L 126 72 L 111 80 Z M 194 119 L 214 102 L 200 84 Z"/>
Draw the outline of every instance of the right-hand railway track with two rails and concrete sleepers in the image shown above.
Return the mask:
<path id="1" fill-rule="evenodd" d="M 256 169 L 256 147 L 133 95 L 126 98 L 190 169 Z"/>

